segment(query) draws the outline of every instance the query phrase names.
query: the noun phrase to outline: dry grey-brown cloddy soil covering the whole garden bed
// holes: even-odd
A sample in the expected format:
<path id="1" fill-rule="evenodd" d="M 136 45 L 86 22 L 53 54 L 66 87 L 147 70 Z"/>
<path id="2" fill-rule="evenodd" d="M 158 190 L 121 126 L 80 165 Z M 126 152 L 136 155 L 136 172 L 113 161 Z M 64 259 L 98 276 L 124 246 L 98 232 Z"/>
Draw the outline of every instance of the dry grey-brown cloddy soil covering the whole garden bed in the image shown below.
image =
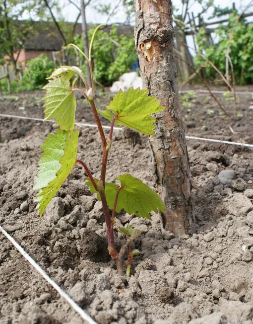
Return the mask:
<path id="1" fill-rule="evenodd" d="M 8 96 L 0 100 L 0 113 L 43 118 L 42 97 L 39 91 Z M 98 107 L 111 97 L 100 94 Z M 233 116 L 232 97 L 217 97 Z M 232 119 L 206 93 L 182 99 L 187 135 L 253 144 L 251 94 L 238 95 Z M 94 123 L 85 100 L 77 107 L 78 122 Z M 40 146 L 53 126 L 0 117 L 0 225 L 85 312 L 99 324 L 253 323 L 252 149 L 188 141 L 196 233 L 177 239 L 161 231 L 156 214 L 152 221 L 117 215 L 118 226 L 130 223 L 142 231 L 135 242 L 141 253 L 126 279 L 108 256 L 101 203 L 84 185 L 81 167 L 43 218 L 37 216 L 32 188 Z M 96 129 L 80 128 L 78 158 L 95 177 L 101 156 Z M 131 173 L 153 187 L 152 172 L 147 137 L 115 131 L 107 179 Z M 118 246 L 125 242 L 117 230 L 115 236 Z M 0 234 L 0 324 L 14 323 L 84 322 Z"/>

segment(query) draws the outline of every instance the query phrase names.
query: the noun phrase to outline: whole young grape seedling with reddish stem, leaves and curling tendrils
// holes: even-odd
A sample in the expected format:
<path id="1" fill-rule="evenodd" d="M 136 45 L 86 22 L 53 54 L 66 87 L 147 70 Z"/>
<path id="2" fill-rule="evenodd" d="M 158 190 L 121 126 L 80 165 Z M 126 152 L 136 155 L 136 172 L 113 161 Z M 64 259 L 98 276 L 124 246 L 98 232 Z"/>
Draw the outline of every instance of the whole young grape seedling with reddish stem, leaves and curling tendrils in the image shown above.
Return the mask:
<path id="1" fill-rule="evenodd" d="M 99 26 L 98 26 L 99 28 Z M 97 28 L 97 29 L 98 29 Z M 96 30 L 97 30 L 96 29 Z M 95 30 L 95 32 L 96 32 Z M 94 35 L 95 35 L 94 32 Z M 114 182 L 106 182 L 107 159 L 113 144 L 114 125 L 122 125 L 134 129 L 146 135 L 154 134 L 155 117 L 151 114 L 158 113 L 164 109 L 155 97 L 147 96 L 148 90 L 130 88 L 126 92 L 119 91 L 105 110 L 96 109 L 94 97 L 95 86 L 92 74 L 91 49 L 94 40 L 91 40 L 89 57 L 78 49 L 89 63 L 92 84 L 88 84 L 82 71 L 78 67 L 63 66 L 56 69 L 48 78 L 49 83 L 45 85 L 45 119 L 56 119 L 59 129 L 55 134 L 49 134 L 41 149 L 44 151 L 39 162 L 40 171 L 34 189 L 38 190 L 36 201 L 38 202 L 39 215 L 42 216 L 45 208 L 55 194 L 59 191 L 63 182 L 76 163 L 80 163 L 88 178 L 85 179 L 92 193 L 96 193 L 102 202 L 103 212 L 107 225 L 108 250 L 113 259 L 117 261 L 119 274 L 123 274 L 124 262 L 126 260 L 126 275 L 129 276 L 131 260 L 138 250 L 131 250 L 130 245 L 140 234 L 130 225 L 126 228 L 118 227 L 118 230 L 126 235 L 126 244 L 118 252 L 115 247 L 114 223 L 116 213 L 122 209 L 128 214 L 150 219 L 151 211 L 165 212 L 165 206 L 157 193 L 150 189 L 141 180 L 130 174 L 118 176 Z M 74 46 L 70 44 L 69 46 Z M 85 91 L 76 88 L 74 75 L 78 75 L 84 83 Z M 100 133 L 103 156 L 101 163 L 101 175 L 99 179 L 93 178 L 85 162 L 77 158 L 78 130 L 75 130 L 75 92 L 80 92 L 88 100 L 92 109 L 98 131 Z M 106 137 L 102 128 L 99 114 L 111 121 L 109 136 Z M 119 184 L 117 184 L 119 183 Z"/>

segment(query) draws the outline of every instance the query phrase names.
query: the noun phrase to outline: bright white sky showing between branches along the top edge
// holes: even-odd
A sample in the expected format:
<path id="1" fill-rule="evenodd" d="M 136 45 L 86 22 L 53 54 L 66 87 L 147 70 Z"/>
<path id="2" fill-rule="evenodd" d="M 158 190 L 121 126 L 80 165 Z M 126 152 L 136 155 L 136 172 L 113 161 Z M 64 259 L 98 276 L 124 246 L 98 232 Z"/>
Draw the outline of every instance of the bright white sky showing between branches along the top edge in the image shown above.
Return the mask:
<path id="1" fill-rule="evenodd" d="M 74 0 L 75 3 L 79 4 L 79 0 Z M 87 17 L 87 22 L 90 23 L 106 23 L 107 22 L 107 17 L 98 13 L 95 9 L 94 9 L 94 5 L 98 5 L 100 3 L 106 4 L 108 3 L 109 0 L 92 0 L 91 3 L 89 4 L 89 6 L 87 6 L 86 9 L 86 17 Z M 110 0 L 111 3 L 113 3 L 114 5 L 117 4 L 119 2 L 119 0 Z M 197 2 L 197 1 L 195 1 Z M 216 5 L 220 4 L 222 7 L 226 7 L 232 6 L 232 2 L 236 3 L 236 8 L 239 9 L 239 11 L 242 11 L 242 9 L 244 9 L 250 2 L 251 0 L 214 0 L 214 3 Z M 67 21 L 75 21 L 75 18 L 78 14 L 77 9 L 69 4 L 66 5 L 68 3 L 67 0 L 59 0 L 60 5 L 65 7 L 63 8 L 63 16 Z M 222 3 L 222 4 L 221 4 Z M 181 8 L 181 0 L 173 0 L 173 5 L 177 8 L 179 8 L 180 10 Z M 242 9 L 240 9 L 242 8 Z M 192 5 L 192 7 L 190 8 L 190 11 L 193 11 L 194 14 L 197 14 L 199 11 L 201 11 L 201 5 L 198 3 L 194 3 Z M 116 22 L 125 22 L 126 20 L 126 16 L 124 14 L 124 10 L 122 9 L 122 7 L 118 7 L 116 10 L 116 15 L 113 16 L 110 21 L 108 23 L 116 23 Z M 204 15 L 204 18 L 208 17 L 208 12 L 207 14 Z M 134 23 L 134 21 L 132 21 L 132 23 Z"/>

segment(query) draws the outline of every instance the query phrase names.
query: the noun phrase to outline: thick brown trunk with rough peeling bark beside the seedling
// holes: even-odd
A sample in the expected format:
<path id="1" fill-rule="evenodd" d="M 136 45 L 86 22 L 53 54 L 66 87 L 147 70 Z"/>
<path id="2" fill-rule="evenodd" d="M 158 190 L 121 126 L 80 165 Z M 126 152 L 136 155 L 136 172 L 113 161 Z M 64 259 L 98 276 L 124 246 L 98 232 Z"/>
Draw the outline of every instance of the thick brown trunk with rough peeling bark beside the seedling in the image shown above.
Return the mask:
<path id="1" fill-rule="evenodd" d="M 135 0 L 135 44 L 141 79 L 165 110 L 157 114 L 156 136 L 149 139 L 154 176 L 166 205 L 162 226 L 176 237 L 194 231 L 191 180 L 185 132 L 179 107 L 177 68 L 173 57 L 171 0 Z"/>

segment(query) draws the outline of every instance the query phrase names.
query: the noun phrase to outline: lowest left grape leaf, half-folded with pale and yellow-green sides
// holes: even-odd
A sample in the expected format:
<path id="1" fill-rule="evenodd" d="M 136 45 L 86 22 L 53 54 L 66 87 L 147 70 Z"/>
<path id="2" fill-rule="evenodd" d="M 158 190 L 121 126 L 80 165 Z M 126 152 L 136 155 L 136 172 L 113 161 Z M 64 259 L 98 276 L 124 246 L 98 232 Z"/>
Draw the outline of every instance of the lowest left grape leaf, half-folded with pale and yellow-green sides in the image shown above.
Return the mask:
<path id="1" fill-rule="evenodd" d="M 79 132 L 57 130 L 56 135 L 50 135 L 41 147 L 44 150 L 39 162 L 41 170 L 34 186 L 34 189 L 39 190 L 35 201 L 39 202 L 41 216 L 76 163 Z"/>

